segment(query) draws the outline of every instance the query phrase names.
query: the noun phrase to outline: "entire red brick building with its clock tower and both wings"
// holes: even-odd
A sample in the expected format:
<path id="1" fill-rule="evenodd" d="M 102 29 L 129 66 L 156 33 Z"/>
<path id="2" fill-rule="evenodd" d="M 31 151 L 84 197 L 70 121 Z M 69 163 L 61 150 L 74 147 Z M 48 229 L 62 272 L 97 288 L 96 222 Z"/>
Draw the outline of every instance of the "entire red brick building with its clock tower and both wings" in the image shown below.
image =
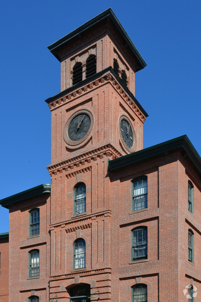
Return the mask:
<path id="1" fill-rule="evenodd" d="M 143 58 L 111 9 L 48 48 L 52 184 L 0 201 L 9 301 L 201 301 L 201 158 L 187 136 L 143 149 Z"/>

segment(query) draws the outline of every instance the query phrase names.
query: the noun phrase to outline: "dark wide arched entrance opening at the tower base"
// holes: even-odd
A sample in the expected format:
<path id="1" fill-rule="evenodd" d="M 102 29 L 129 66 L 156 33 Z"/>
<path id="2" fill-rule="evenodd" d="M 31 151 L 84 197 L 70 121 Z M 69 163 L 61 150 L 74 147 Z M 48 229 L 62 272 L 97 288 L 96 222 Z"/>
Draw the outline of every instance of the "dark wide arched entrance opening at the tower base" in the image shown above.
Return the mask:
<path id="1" fill-rule="evenodd" d="M 70 301 L 86 302 L 90 300 L 90 284 L 75 285 L 69 290 Z"/>

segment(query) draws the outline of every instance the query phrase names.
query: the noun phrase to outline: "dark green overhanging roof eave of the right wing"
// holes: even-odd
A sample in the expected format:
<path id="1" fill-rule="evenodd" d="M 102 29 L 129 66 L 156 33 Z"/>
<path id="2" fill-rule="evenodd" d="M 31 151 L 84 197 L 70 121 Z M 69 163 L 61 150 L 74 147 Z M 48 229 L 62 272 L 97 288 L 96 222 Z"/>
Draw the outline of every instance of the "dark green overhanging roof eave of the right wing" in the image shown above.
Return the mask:
<path id="1" fill-rule="evenodd" d="M 201 157 L 199 156 L 194 146 L 191 144 L 188 136 L 186 135 L 179 136 L 177 138 L 167 140 L 152 147 L 133 152 L 122 157 L 115 158 L 109 161 L 108 167 L 111 171 L 120 169 L 122 167 L 125 168 L 126 166 L 130 166 L 131 164 L 135 164 L 142 160 L 151 159 L 151 157 L 177 148 L 182 150 L 183 155 L 186 155 L 191 165 L 195 168 L 195 170 L 197 170 L 197 172 L 201 176 Z"/>

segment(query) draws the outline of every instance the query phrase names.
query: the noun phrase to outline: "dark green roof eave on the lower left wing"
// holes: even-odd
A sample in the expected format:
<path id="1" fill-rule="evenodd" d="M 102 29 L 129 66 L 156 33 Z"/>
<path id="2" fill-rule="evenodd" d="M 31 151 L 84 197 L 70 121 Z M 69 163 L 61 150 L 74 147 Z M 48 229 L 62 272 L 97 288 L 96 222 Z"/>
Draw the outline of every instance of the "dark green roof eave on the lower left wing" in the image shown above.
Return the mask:
<path id="1" fill-rule="evenodd" d="M 2 205 L 2 207 L 4 207 L 4 208 L 8 209 L 8 205 L 12 205 L 15 202 L 23 201 L 25 199 L 35 197 L 35 196 L 41 195 L 43 193 L 50 193 L 50 192 L 51 192 L 50 184 L 41 184 L 37 187 L 31 188 L 26 191 L 19 192 L 15 195 L 1 199 L 0 205 Z"/>

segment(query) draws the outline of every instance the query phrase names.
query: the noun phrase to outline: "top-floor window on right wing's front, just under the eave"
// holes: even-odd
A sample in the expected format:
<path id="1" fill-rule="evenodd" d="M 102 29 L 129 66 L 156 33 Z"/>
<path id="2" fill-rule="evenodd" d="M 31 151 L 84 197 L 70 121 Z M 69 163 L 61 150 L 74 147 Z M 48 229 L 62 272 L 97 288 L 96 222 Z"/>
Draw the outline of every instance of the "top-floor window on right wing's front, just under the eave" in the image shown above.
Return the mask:
<path id="1" fill-rule="evenodd" d="M 132 181 L 131 211 L 147 208 L 147 176 Z"/>

